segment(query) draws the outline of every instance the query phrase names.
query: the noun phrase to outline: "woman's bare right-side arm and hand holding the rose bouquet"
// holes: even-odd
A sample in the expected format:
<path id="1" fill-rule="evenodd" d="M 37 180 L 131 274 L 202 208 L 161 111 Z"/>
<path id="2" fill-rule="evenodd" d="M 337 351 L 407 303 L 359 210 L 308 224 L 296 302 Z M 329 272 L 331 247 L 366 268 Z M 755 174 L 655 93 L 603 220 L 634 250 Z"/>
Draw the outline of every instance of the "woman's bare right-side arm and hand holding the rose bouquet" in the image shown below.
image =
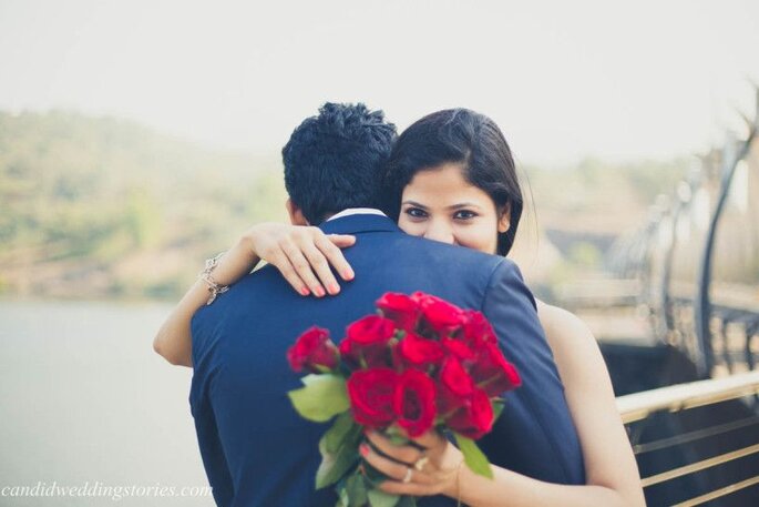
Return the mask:
<path id="1" fill-rule="evenodd" d="M 396 460 L 383 458 L 371 448 L 362 449 L 372 466 L 397 479 L 383 483 L 383 490 L 399 495 L 443 494 L 472 507 L 645 506 L 635 456 L 593 334 L 579 318 L 558 308 L 544 306 L 539 308 L 539 316 L 550 336 L 577 428 L 587 484 L 552 484 L 496 466 L 493 466 L 492 480 L 481 477 L 465 466 L 459 467 L 461 453 L 434 432 L 416 439 L 428 447 L 429 462 L 423 471 L 414 470 L 412 480 L 403 484 L 406 464 L 413 465 L 421 454 L 411 446 L 393 446 L 387 438 L 371 433 L 370 442 Z"/>

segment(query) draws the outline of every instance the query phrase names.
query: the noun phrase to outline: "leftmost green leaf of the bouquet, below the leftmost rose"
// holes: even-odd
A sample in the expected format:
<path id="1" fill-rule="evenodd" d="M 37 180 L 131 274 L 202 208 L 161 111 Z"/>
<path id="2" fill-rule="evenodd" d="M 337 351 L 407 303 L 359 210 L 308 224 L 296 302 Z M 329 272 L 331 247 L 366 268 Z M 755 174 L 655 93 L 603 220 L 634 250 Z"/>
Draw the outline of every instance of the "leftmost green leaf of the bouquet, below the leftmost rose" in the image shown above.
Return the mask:
<path id="1" fill-rule="evenodd" d="M 302 417 L 316 423 L 326 423 L 350 407 L 346 379 L 338 375 L 306 375 L 305 387 L 293 389 L 287 395 Z"/>

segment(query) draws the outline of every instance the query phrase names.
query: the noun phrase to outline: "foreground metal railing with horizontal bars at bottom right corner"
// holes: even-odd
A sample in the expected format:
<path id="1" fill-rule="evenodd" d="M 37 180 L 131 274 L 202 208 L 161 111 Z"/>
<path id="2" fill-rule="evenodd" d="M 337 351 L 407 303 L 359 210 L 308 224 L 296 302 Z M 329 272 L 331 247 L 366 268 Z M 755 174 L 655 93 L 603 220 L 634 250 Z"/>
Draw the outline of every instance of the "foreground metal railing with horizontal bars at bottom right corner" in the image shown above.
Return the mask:
<path id="1" fill-rule="evenodd" d="M 746 490 L 759 484 L 759 372 L 735 374 L 724 378 L 693 382 L 675 386 L 635 393 L 617 397 L 617 408 L 630 435 L 630 444 L 636 458 L 640 463 L 644 455 L 650 453 L 670 453 L 676 449 L 678 458 L 686 457 L 688 463 L 679 459 L 669 459 L 666 463 L 675 463 L 675 466 L 660 469 L 642 478 L 642 485 L 646 491 L 649 505 L 676 505 L 678 507 L 696 506 L 718 498 L 726 500 L 729 495 Z M 671 435 L 657 435 L 650 442 L 640 442 L 642 428 L 661 425 L 667 416 L 678 415 L 688 410 L 716 407 L 724 403 L 737 404 L 738 408 L 745 408 L 741 417 L 734 417 L 735 410 L 727 422 L 717 424 L 699 425 L 695 428 L 683 430 L 681 426 L 674 428 Z M 735 408 L 735 407 L 734 407 Z M 716 407 L 716 409 L 720 409 Z M 664 416 L 664 418 L 661 417 Z M 708 423 L 708 417 L 696 414 L 693 420 Z M 637 426 L 636 426 L 637 425 Z M 739 438 L 735 432 L 742 432 Z M 729 437 L 728 437 L 729 436 Z M 711 439 L 707 446 L 698 447 L 698 443 Z M 715 443 L 718 443 L 715 444 Z M 734 448 L 736 447 L 737 448 Z M 689 449 L 689 452 L 683 452 Z M 712 453 L 712 454 L 709 454 Z M 738 463 L 738 460 L 743 462 Z M 749 462 L 746 462 L 749 459 Z M 661 460 L 660 460 L 661 462 Z M 660 463 L 659 462 L 659 463 Z M 732 464 L 729 471 L 720 470 Z M 737 470 L 737 471 L 736 471 Z M 671 491 L 664 493 L 667 484 L 678 479 L 693 477 L 696 474 L 702 476 L 698 480 L 691 480 L 691 486 L 684 488 L 674 485 Z M 711 474 L 712 478 L 708 476 Z M 714 477 L 719 476 L 718 479 Z M 725 484 L 729 477 L 730 483 Z M 715 487 L 717 484 L 717 487 Z M 658 487 L 658 496 L 652 495 L 652 488 Z M 689 498 L 684 496 L 694 495 Z M 652 498 L 658 498 L 653 500 Z M 673 498 L 677 498 L 673 501 Z M 730 504 L 731 505 L 731 504 Z"/>

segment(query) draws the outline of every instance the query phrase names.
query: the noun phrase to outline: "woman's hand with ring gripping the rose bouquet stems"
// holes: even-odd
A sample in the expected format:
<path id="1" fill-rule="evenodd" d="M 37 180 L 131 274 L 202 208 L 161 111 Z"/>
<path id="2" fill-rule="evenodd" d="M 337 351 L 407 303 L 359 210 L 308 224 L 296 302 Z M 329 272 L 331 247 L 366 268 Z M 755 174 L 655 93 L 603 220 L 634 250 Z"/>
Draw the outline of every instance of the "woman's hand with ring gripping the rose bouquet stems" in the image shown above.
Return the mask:
<path id="1" fill-rule="evenodd" d="M 367 438 L 373 448 L 361 444 L 363 459 L 390 478 L 379 489 L 393 495 L 458 496 L 457 475 L 463 454 L 437 430 L 410 438 L 422 449 L 396 445 L 378 432 L 368 432 Z"/>

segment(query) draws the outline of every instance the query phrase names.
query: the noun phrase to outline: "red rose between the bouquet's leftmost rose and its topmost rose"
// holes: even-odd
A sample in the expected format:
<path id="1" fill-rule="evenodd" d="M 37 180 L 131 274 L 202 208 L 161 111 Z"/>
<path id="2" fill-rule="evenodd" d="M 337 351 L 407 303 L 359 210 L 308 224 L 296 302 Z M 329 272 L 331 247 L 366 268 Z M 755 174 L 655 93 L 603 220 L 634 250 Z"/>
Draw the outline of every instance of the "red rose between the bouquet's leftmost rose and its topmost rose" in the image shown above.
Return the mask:
<path id="1" fill-rule="evenodd" d="M 351 366 L 389 366 L 388 342 L 396 326 L 389 318 L 369 315 L 348 326 L 340 354 Z"/>

